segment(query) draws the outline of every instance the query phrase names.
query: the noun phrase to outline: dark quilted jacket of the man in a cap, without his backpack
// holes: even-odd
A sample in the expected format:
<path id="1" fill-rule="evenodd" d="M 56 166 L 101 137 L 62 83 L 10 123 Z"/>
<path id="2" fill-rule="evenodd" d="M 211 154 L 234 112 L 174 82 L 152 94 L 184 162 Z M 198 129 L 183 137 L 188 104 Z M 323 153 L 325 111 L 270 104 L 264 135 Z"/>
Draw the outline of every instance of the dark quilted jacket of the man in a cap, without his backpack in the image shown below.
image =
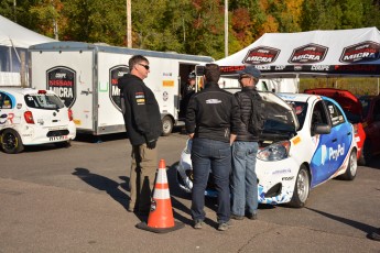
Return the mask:
<path id="1" fill-rule="evenodd" d="M 238 136 L 236 138 L 236 141 L 241 142 L 258 142 L 259 136 L 251 134 L 247 130 L 248 121 L 251 117 L 251 108 L 252 108 L 252 101 L 253 99 L 260 99 L 261 97 L 256 90 L 256 87 L 243 87 L 241 91 L 238 91 L 235 94 L 236 99 L 238 100 L 239 108 L 240 108 L 240 124 L 238 128 Z"/>

